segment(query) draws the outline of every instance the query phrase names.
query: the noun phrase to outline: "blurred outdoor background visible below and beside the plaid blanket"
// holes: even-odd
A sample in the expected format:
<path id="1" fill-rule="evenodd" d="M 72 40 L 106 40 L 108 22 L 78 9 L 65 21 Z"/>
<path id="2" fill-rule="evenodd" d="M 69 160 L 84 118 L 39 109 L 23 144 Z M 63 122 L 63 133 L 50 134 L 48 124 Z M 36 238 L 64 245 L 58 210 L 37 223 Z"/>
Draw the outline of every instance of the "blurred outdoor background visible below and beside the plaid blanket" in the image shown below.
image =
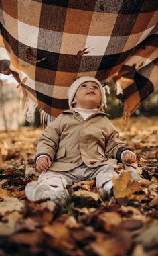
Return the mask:
<path id="1" fill-rule="evenodd" d="M 123 103 L 116 99 L 116 86 L 110 83 L 110 95 L 107 95 L 108 108 L 106 112 L 109 118 L 121 117 L 123 114 Z M 20 103 L 20 88 L 13 75 L 0 74 L 0 131 L 18 130 L 21 126 L 40 126 L 40 110 L 37 108 L 31 123 L 25 120 L 25 114 Z M 157 116 L 158 91 L 151 93 L 141 103 L 132 116 Z"/>

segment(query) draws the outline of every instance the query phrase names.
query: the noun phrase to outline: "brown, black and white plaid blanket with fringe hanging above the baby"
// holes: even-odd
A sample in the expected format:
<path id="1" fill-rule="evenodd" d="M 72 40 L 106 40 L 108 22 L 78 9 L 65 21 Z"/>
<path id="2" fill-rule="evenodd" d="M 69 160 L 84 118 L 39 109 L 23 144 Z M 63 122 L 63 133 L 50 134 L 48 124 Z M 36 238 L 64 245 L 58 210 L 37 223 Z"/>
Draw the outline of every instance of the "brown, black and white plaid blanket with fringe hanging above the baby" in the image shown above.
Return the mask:
<path id="1" fill-rule="evenodd" d="M 155 91 L 157 1 L 1 0 L 0 7 L 0 72 L 18 81 L 28 117 L 35 105 L 58 116 L 82 75 L 114 81 L 128 114 Z"/>

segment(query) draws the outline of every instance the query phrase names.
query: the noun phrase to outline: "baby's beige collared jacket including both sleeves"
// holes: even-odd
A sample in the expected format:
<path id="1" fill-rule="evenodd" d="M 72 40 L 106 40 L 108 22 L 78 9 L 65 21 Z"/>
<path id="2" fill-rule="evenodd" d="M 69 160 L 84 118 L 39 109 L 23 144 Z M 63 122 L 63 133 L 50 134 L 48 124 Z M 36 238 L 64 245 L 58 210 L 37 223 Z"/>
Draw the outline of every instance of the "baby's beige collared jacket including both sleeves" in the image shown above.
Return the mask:
<path id="1" fill-rule="evenodd" d="M 40 137 L 35 160 L 48 155 L 52 159 L 50 171 L 70 171 L 82 163 L 88 167 L 116 165 L 127 149 L 104 112 L 98 111 L 84 120 L 80 114 L 66 110 Z"/>

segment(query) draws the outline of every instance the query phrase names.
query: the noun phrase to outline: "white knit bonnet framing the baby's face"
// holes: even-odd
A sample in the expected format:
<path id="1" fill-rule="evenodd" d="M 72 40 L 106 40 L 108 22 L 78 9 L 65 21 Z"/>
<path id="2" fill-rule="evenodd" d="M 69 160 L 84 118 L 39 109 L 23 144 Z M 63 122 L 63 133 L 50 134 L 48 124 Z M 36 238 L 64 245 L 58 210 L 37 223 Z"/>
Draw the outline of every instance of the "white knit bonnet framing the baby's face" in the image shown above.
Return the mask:
<path id="1" fill-rule="evenodd" d="M 102 105 L 103 102 L 106 102 L 106 95 L 104 93 L 104 89 L 103 89 L 102 84 L 100 83 L 100 81 L 98 81 L 98 79 L 96 79 L 95 77 L 90 77 L 90 76 L 80 77 L 80 78 L 76 79 L 74 81 L 74 83 L 72 83 L 72 85 L 68 89 L 68 105 L 69 105 L 70 110 L 73 110 L 73 107 L 72 107 L 71 103 L 74 99 L 74 95 L 75 95 L 78 87 L 80 87 L 80 85 L 82 85 L 82 83 L 86 83 L 88 81 L 94 82 L 99 86 L 101 96 L 102 96 L 101 105 Z"/>

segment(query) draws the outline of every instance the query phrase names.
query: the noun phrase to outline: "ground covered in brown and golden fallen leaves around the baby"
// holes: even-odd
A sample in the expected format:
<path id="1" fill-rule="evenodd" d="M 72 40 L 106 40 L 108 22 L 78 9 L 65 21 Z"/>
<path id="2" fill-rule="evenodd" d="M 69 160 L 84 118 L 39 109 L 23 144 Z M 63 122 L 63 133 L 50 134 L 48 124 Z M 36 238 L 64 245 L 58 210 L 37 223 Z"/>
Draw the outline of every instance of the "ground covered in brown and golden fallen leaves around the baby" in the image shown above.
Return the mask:
<path id="1" fill-rule="evenodd" d="M 0 134 L 0 255 L 156 256 L 156 118 L 112 122 L 137 154 L 133 166 L 120 164 L 114 196 L 98 194 L 94 181 L 76 183 L 64 202 L 29 202 L 24 188 L 37 180 L 33 155 L 37 128 Z M 135 169 L 139 181 L 125 169 Z"/>

